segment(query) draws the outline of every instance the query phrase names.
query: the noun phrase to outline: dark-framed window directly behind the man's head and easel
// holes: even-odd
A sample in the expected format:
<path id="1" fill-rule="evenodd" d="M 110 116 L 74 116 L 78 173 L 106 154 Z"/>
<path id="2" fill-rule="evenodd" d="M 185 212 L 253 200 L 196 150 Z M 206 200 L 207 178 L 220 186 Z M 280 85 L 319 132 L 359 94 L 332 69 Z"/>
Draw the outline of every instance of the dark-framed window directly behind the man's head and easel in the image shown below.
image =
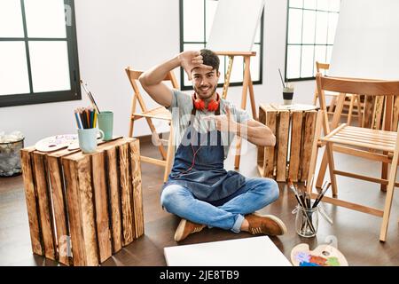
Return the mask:
<path id="1" fill-rule="evenodd" d="M 201 50 L 207 47 L 207 38 L 212 27 L 217 0 L 180 0 L 180 51 Z M 256 56 L 251 58 L 251 77 L 254 84 L 262 84 L 263 58 L 263 14 L 254 39 L 253 51 Z M 224 74 L 229 59 L 220 56 L 221 73 L 218 87 L 223 87 Z M 192 90 L 192 83 L 188 80 L 183 68 L 180 68 L 181 90 Z M 231 86 L 240 86 L 243 82 L 244 62 L 242 57 L 234 58 L 231 70 Z"/>

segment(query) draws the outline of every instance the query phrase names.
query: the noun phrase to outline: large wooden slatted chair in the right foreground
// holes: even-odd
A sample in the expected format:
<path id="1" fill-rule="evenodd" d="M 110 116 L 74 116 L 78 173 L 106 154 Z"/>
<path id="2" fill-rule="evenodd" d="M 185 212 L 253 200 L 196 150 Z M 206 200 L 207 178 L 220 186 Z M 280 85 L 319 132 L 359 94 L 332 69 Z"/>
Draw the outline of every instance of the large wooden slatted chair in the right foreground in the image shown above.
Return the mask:
<path id="1" fill-rule="evenodd" d="M 385 107 L 384 130 L 364 129 L 360 127 L 352 127 L 347 123 L 340 124 L 337 128 L 330 130 L 328 122 L 327 109 L 325 105 L 325 91 L 336 91 L 340 93 L 337 108 L 339 111 L 342 109 L 345 94 L 365 94 L 368 96 L 381 96 L 384 95 L 387 99 Z M 354 209 L 374 216 L 382 217 L 382 225 L 380 227 L 379 240 L 387 240 L 387 225 L 392 205 L 393 193 L 395 186 L 396 169 L 399 155 L 399 135 L 398 131 L 392 131 L 395 127 L 393 122 L 397 123 L 397 115 L 394 113 L 394 98 L 399 95 L 399 81 L 370 81 L 370 80 L 351 80 L 325 77 L 320 73 L 317 74 L 317 92 L 318 99 L 321 106 L 322 124 L 325 136 L 320 138 L 320 130 L 317 130 L 316 138 L 314 139 L 313 150 L 311 154 L 311 164 L 309 170 L 309 177 L 307 181 L 307 190 L 312 192 L 313 174 L 316 168 L 317 159 L 317 146 L 325 146 L 325 154 L 327 157 L 330 178 L 332 183 L 332 197 L 324 197 L 323 201 L 342 206 L 348 209 Z M 394 114 L 394 115 L 393 115 Z M 339 117 L 340 113 L 334 114 Z M 372 161 L 391 163 L 391 170 L 387 179 L 366 177 L 354 173 L 340 171 L 335 169 L 333 152 L 342 154 L 354 155 L 357 157 L 369 159 Z M 354 177 L 363 179 L 370 182 L 387 185 L 386 201 L 383 210 L 374 209 L 361 204 L 343 201 L 338 199 L 338 189 L 336 182 L 336 175 L 345 177 Z M 312 198 L 317 194 L 311 193 Z"/>

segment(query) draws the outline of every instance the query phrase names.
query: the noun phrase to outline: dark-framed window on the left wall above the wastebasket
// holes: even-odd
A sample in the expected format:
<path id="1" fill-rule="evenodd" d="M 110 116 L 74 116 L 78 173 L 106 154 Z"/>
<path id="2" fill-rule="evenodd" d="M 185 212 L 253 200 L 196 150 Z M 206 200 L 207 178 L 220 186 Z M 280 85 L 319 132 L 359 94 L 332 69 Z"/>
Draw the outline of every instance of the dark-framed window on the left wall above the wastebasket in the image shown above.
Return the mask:
<path id="1" fill-rule="evenodd" d="M 0 1 L 0 106 L 81 99 L 74 0 Z"/>

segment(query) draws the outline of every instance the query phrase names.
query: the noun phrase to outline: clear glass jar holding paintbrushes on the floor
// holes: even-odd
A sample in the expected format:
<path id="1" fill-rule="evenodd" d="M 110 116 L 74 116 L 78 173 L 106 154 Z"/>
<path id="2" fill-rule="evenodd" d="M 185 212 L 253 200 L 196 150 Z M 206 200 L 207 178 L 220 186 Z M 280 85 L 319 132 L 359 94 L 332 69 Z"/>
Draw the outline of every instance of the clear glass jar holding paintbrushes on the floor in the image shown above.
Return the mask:
<path id="1" fill-rule="evenodd" d="M 313 209 L 304 209 L 298 205 L 293 209 L 296 233 L 305 238 L 314 237 L 318 228 L 318 206 Z"/>

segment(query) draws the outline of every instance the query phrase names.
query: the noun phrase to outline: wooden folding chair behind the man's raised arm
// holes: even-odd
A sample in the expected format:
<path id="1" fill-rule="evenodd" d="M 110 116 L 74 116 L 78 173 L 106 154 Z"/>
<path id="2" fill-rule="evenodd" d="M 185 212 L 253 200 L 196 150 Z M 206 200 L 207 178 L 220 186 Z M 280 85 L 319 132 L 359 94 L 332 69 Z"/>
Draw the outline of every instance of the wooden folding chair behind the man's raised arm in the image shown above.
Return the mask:
<path id="1" fill-rule="evenodd" d="M 144 99 L 140 93 L 140 89 L 138 88 L 138 85 L 137 85 L 138 77 L 143 72 L 134 70 L 131 67 L 127 67 L 125 70 L 126 70 L 126 73 L 129 77 L 129 81 L 130 81 L 131 86 L 133 87 L 133 91 L 134 91 L 133 100 L 132 100 L 132 104 L 131 104 L 131 115 L 130 115 L 130 120 L 129 120 L 130 121 L 129 137 L 133 137 L 133 130 L 134 130 L 135 122 L 141 118 L 145 118 L 145 120 L 147 121 L 148 126 L 150 127 L 150 130 L 153 134 L 153 143 L 156 146 L 158 146 L 158 148 L 160 150 L 161 160 L 154 159 L 152 157 L 147 157 L 144 155 L 141 155 L 140 159 L 142 162 L 149 162 L 149 163 L 153 163 L 153 164 L 165 167 L 165 171 L 164 171 L 164 175 L 163 175 L 163 182 L 166 182 L 168 180 L 168 174 L 172 168 L 174 149 L 175 149 L 174 143 L 173 143 L 174 131 L 173 131 L 173 125 L 172 125 L 172 115 L 170 114 L 168 109 L 166 109 L 166 107 L 164 107 L 164 106 L 158 106 L 153 109 L 148 109 L 145 106 L 145 101 L 144 101 Z M 170 71 L 164 80 L 170 81 L 172 83 L 173 88 L 175 88 L 175 89 L 179 88 L 173 71 Z M 138 113 L 136 111 L 137 101 L 141 107 L 141 113 Z M 160 135 L 157 133 L 157 131 L 155 130 L 155 127 L 153 125 L 153 119 L 160 119 L 160 120 L 167 121 L 169 123 L 170 132 L 169 132 L 168 140 L 160 138 Z M 165 151 L 163 143 L 168 143 L 167 151 Z"/>

